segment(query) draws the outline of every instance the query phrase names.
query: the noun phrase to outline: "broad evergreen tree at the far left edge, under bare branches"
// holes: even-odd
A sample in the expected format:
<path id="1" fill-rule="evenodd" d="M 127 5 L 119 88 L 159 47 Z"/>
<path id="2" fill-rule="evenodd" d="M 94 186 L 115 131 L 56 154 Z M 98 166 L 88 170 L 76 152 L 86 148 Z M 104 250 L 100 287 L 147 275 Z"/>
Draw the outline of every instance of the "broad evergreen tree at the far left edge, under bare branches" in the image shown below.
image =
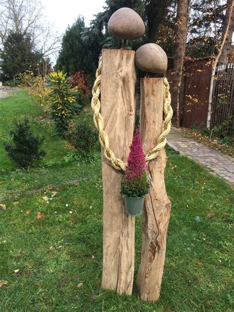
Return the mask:
<path id="1" fill-rule="evenodd" d="M 29 34 L 10 32 L 0 51 L 3 79 L 12 79 L 16 74 L 31 67 L 36 68 L 41 57 L 41 53 L 35 50 Z"/>

